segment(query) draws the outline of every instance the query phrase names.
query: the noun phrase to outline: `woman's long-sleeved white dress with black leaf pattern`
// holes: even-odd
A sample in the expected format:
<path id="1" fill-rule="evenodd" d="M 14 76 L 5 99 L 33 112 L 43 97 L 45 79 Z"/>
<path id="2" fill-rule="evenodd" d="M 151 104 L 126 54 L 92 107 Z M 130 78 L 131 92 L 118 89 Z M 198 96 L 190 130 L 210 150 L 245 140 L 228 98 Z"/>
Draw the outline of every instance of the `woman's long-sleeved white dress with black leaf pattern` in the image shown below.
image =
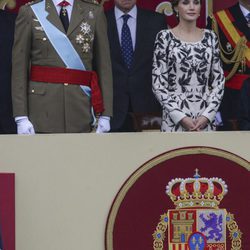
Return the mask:
<path id="1" fill-rule="evenodd" d="M 180 121 L 203 115 L 214 130 L 215 114 L 224 92 L 224 73 L 218 40 L 204 29 L 198 42 L 184 42 L 171 30 L 162 30 L 155 41 L 153 92 L 162 105 L 162 131 L 185 131 Z"/>

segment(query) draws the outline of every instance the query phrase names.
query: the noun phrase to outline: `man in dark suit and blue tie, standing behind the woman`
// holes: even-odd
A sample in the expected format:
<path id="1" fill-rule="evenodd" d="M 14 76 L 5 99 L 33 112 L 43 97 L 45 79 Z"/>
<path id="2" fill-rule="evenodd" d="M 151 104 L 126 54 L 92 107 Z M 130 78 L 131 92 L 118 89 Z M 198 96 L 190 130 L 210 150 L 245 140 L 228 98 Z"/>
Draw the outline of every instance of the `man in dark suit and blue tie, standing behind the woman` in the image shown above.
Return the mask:
<path id="1" fill-rule="evenodd" d="M 114 93 L 111 131 L 134 132 L 135 116 L 160 114 L 152 93 L 152 57 L 156 34 L 167 25 L 164 15 L 138 8 L 136 0 L 114 2 L 106 13 Z"/>

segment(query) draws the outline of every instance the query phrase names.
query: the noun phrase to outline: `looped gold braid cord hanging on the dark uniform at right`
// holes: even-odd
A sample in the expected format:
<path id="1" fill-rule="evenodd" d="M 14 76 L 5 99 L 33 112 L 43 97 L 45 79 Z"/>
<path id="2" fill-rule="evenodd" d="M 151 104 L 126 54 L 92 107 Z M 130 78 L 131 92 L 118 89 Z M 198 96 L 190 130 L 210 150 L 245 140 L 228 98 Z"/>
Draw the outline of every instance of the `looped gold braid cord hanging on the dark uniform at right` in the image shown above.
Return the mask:
<path id="1" fill-rule="evenodd" d="M 212 20 L 212 28 L 218 37 L 221 60 L 225 64 L 234 64 L 231 71 L 229 72 L 229 74 L 226 77 L 226 81 L 228 81 L 229 79 L 231 79 L 234 76 L 234 74 L 237 72 L 240 65 L 242 67 L 242 71 L 245 71 L 245 69 L 246 69 L 246 57 L 245 57 L 245 55 L 246 55 L 246 50 L 248 48 L 247 47 L 247 39 L 245 36 L 242 36 L 239 39 L 239 41 L 236 43 L 235 48 L 231 52 L 225 51 L 221 45 L 221 42 L 220 42 L 219 28 L 218 28 L 217 21 L 216 21 L 214 15 L 210 15 L 210 18 Z M 227 59 L 227 57 L 225 55 L 231 56 L 231 59 L 230 60 Z"/>

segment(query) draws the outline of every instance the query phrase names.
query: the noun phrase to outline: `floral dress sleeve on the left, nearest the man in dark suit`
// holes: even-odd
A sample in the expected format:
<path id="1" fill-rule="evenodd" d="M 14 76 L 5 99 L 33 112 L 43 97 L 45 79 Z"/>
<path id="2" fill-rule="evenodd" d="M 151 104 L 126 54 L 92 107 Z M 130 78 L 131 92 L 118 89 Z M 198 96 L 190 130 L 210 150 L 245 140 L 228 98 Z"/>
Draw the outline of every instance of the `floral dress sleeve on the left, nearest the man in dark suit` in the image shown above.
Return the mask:
<path id="1" fill-rule="evenodd" d="M 167 60 L 169 41 L 169 32 L 163 30 L 158 33 L 153 56 L 152 89 L 162 108 L 167 111 L 173 122 L 178 124 L 186 115 L 172 95 L 175 91 L 176 75 L 170 72 L 175 64 L 169 65 Z"/>

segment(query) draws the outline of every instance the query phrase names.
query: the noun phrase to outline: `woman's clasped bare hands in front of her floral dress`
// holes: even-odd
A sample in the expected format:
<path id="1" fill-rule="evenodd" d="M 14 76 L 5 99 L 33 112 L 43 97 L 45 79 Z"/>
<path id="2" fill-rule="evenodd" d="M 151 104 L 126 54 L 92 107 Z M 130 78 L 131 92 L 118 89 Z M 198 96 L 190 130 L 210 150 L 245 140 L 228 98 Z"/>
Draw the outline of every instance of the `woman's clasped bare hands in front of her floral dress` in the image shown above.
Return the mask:
<path id="1" fill-rule="evenodd" d="M 201 131 L 207 126 L 208 122 L 209 120 L 207 117 L 203 115 L 196 119 L 186 116 L 180 121 L 182 127 L 184 127 L 187 131 Z"/>

